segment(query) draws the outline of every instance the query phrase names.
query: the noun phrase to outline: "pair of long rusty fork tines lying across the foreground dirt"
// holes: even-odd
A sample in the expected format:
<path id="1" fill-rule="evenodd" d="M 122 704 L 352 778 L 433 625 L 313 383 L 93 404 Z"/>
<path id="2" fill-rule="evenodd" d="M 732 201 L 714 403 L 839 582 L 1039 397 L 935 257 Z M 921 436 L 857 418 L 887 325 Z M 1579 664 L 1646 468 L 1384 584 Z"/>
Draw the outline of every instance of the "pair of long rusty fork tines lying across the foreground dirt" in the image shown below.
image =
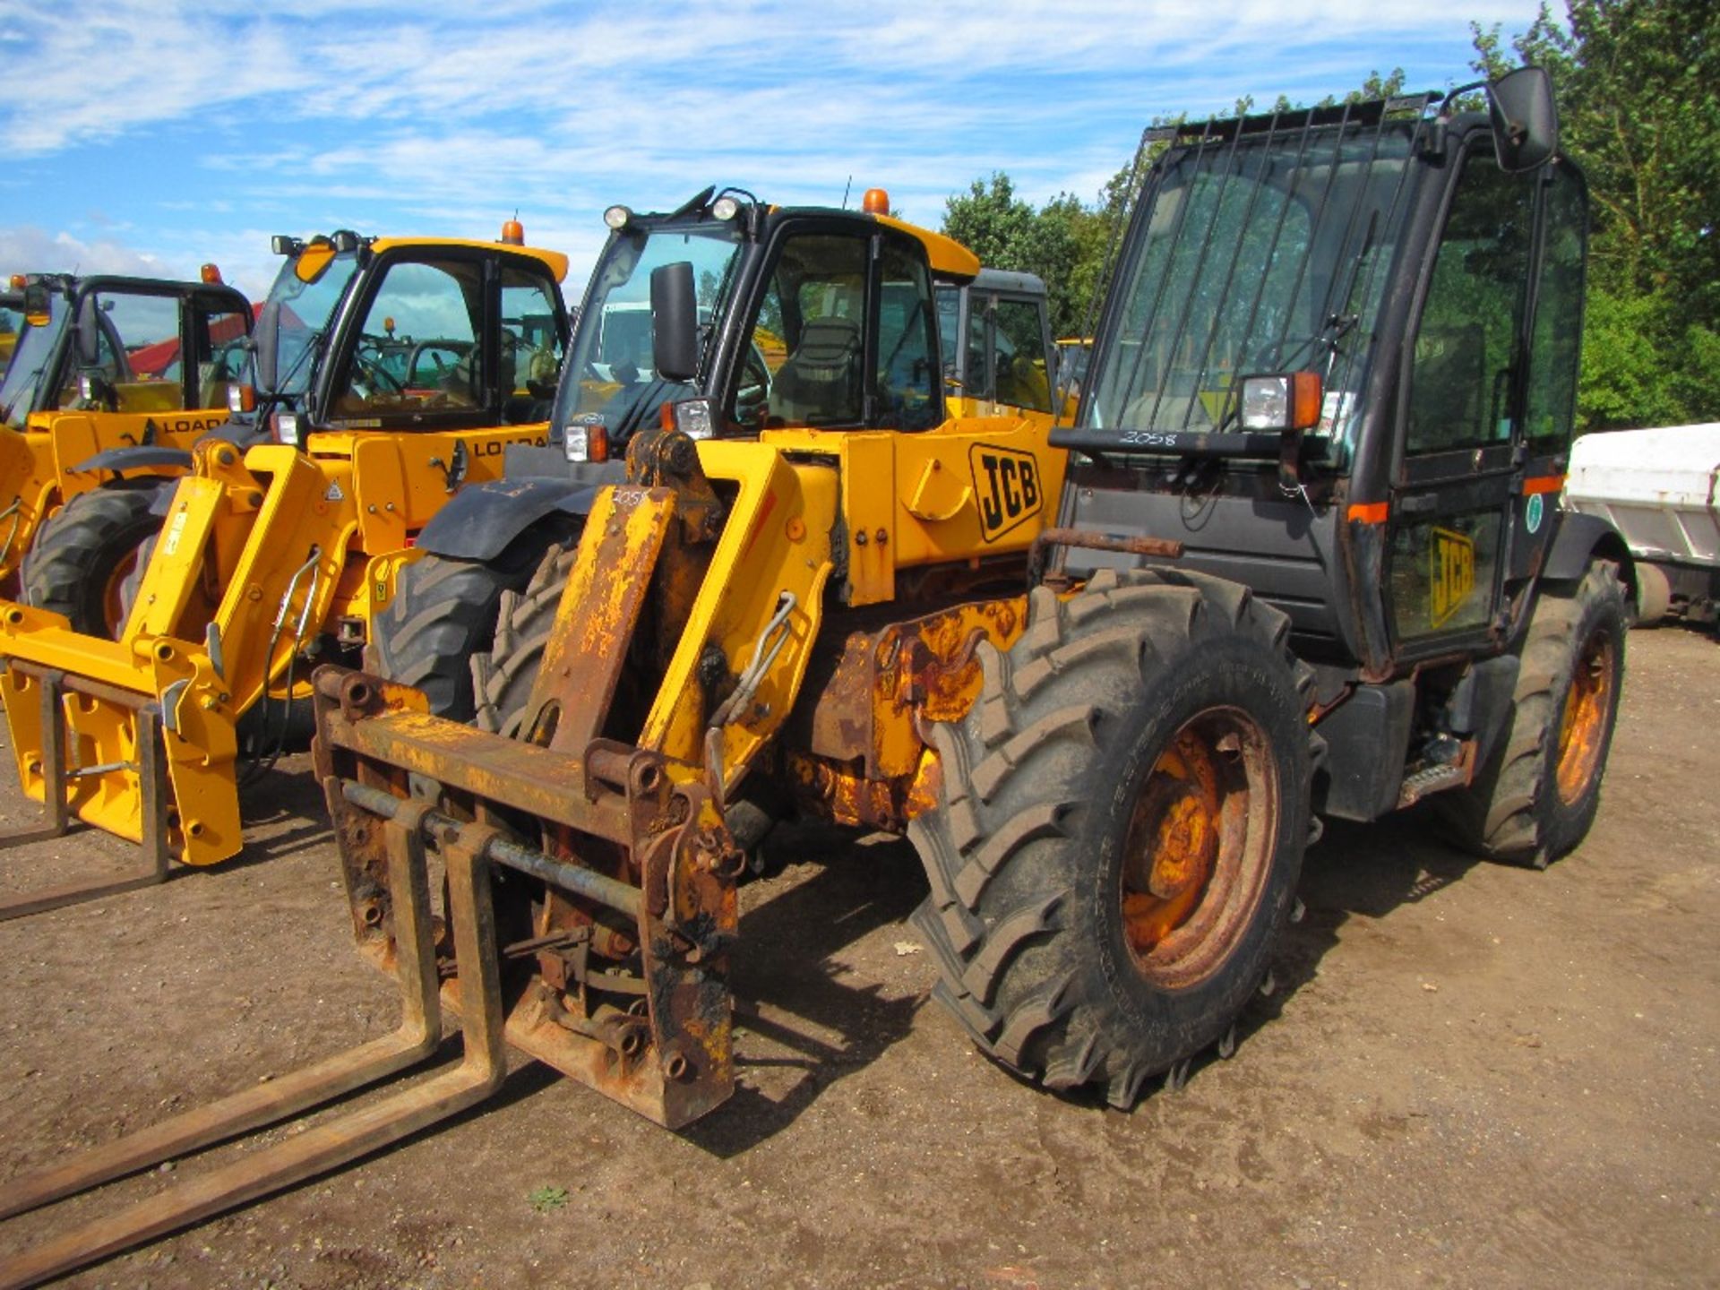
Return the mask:
<path id="1" fill-rule="evenodd" d="M 310 1113 L 428 1058 L 442 1037 L 425 855 L 428 815 L 428 803 L 399 802 L 380 829 L 396 896 L 389 931 L 396 949 L 392 968 L 401 987 L 402 1018 L 394 1034 L 174 1116 L 41 1173 L 17 1178 L 0 1187 L 0 1218 L 38 1209 L 160 1161 Z M 444 834 L 439 848 L 447 869 L 449 920 L 463 977 L 464 1058 L 458 1066 L 3 1259 L 0 1290 L 40 1285 L 272 1195 L 380 1151 L 495 1092 L 507 1066 L 487 855 L 492 832 L 482 826 L 468 826 L 458 836 Z"/>

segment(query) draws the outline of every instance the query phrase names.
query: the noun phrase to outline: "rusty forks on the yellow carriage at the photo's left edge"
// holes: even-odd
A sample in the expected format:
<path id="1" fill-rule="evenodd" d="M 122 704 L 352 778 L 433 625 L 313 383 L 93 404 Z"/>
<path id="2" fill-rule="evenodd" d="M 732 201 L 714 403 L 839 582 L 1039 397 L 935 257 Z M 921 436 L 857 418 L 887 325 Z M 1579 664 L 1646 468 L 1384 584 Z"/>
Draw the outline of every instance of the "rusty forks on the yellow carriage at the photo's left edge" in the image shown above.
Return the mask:
<path id="1" fill-rule="evenodd" d="M 14 659 L 12 673 L 33 683 L 38 690 L 38 721 L 41 722 L 41 762 L 29 767 L 41 777 L 43 820 L 38 826 L 0 832 L 0 850 L 26 843 L 64 838 L 71 827 L 72 798 L 86 784 L 100 784 L 108 771 L 129 769 L 138 774 L 143 798 L 143 853 L 144 863 L 119 875 L 40 888 L 22 896 L 0 900 L 0 922 L 22 918 L 43 910 L 58 910 L 86 900 L 112 896 L 120 891 L 155 886 L 169 874 L 169 820 L 167 820 L 167 765 L 162 752 L 162 705 L 143 695 L 127 693 L 110 685 L 83 676 L 40 667 Z M 117 765 L 69 765 L 65 729 L 65 703 L 88 695 L 120 709 L 129 709 L 134 719 L 134 760 Z"/>

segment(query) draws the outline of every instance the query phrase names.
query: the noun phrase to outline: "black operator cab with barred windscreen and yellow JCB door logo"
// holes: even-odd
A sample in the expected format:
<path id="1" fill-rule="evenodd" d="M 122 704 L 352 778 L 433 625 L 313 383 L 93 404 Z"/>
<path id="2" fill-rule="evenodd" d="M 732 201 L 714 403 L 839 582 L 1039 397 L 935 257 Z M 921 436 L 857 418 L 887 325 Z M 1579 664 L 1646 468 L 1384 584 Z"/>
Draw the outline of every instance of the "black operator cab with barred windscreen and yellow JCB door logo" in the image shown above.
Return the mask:
<path id="1" fill-rule="evenodd" d="M 1424 95 L 1159 134 L 1053 435 L 1061 523 L 1180 540 L 1336 667 L 1505 648 L 1557 528 L 1582 316 L 1588 196 L 1539 84 L 1490 88 L 1491 117 Z"/>

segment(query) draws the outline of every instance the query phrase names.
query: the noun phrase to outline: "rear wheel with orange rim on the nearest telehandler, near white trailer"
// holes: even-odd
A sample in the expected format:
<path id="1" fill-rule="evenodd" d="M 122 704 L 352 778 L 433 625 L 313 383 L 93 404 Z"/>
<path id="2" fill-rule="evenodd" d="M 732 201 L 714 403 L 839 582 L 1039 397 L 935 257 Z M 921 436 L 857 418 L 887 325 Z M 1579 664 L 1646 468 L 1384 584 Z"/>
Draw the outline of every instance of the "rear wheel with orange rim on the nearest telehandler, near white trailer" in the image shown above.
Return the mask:
<path id="1" fill-rule="evenodd" d="M 1627 617 L 1610 562 L 1541 588 L 1505 733 L 1469 788 L 1434 798 L 1460 845 L 1545 869 L 1588 834 L 1619 717 Z"/>

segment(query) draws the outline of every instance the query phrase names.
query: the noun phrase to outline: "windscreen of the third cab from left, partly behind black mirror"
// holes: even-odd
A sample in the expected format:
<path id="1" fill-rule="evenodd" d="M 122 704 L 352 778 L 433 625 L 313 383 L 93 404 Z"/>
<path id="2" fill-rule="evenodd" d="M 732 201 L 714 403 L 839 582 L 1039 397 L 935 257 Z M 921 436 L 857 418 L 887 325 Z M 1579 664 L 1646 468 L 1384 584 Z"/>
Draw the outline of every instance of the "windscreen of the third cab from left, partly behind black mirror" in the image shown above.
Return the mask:
<path id="1" fill-rule="evenodd" d="M 669 227 L 630 227 L 609 239 L 569 346 L 569 366 L 556 392 L 556 425 L 602 415 L 619 442 L 657 416 L 688 385 L 657 378 L 652 359 L 650 275 L 654 268 L 691 263 L 702 339 L 721 316 L 741 246 L 733 222 L 702 220 Z"/>

